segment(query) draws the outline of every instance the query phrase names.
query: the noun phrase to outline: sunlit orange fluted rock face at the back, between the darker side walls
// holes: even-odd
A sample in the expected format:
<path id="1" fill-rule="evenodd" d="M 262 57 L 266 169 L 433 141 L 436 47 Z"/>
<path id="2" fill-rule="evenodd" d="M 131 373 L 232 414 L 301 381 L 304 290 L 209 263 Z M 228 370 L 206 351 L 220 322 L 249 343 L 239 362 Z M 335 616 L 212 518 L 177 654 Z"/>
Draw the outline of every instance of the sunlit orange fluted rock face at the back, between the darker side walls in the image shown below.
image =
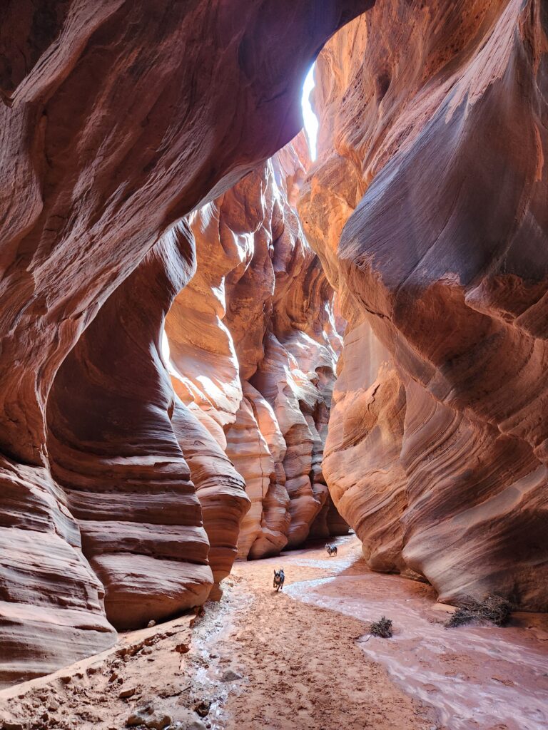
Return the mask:
<path id="1" fill-rule="evenodd" d="M 300 135 L 191 215 L 197 273 L 166 319 L 175 392 L 246 483 L 240 558 L 300 545 L 320 512 L 315 534 L 348 530 L 321 472 L 340 336 L 293 207 L 307 164 Z"/>

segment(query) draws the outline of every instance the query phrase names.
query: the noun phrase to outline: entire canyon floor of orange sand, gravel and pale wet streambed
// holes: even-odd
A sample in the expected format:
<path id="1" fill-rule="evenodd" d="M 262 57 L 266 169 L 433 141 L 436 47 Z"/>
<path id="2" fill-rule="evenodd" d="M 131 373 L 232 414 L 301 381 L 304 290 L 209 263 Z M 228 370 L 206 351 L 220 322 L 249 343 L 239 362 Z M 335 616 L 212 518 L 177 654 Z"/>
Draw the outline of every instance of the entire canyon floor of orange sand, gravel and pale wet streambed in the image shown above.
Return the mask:
<path id="1" fill-rule="evenodd" d="M 445 629 L 433 589 L 371 573 L 353 535 L 237 563 L 219 603 L 0 692 L 4 728 L 541 730 L 548 618 Z M 282 593 L 272 588 L 283 566 Z M 387 615 L 394 637 L 368 634 Z"/>

